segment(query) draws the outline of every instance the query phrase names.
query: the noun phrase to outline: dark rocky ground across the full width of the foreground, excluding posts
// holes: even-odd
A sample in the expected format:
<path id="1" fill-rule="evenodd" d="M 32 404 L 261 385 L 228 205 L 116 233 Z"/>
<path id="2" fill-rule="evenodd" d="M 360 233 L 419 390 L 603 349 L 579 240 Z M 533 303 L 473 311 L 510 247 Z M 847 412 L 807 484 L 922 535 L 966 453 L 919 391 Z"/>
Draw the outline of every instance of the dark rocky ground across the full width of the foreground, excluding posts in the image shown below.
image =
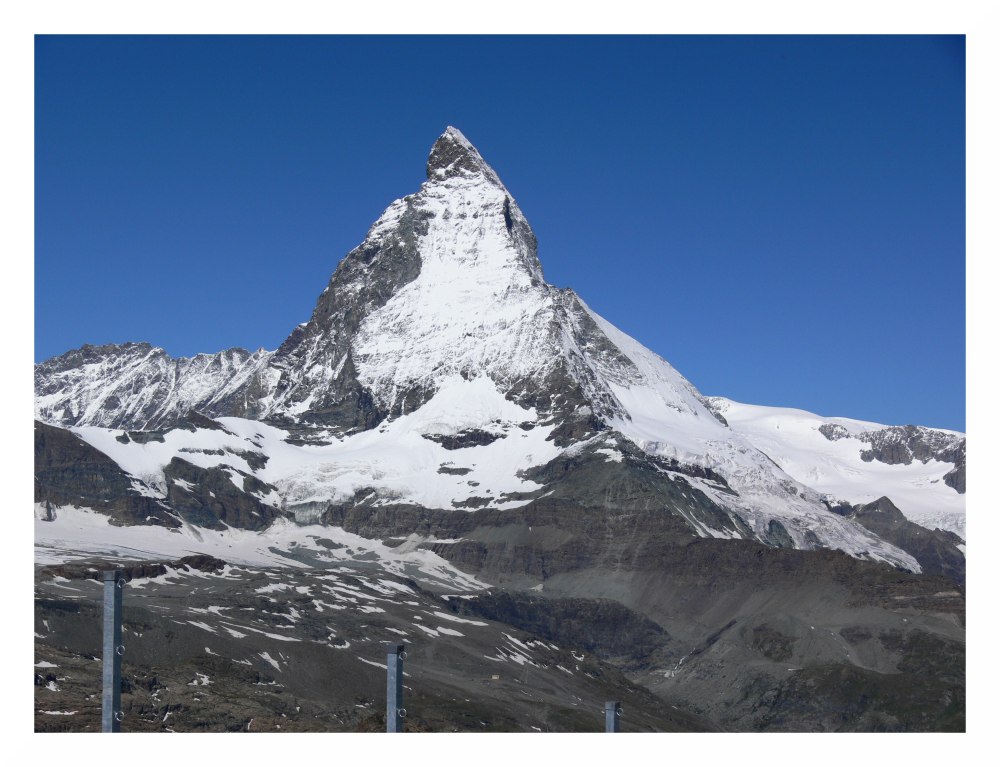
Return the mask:
<path id="1" fill-rule="evenodd" d="M 611 598 L 432 592 L 374 562 L 38 566 L 35 729 L 100 729 L 96 578 L 121 566 L 124 732 L 382 731 L 387 641 L 406 645 L 413 732 L 599 732 L 607 700 L 624 732 L 964 730 L 960 592 L 889 570 L 864 590 L 810 582 L 772 551 L 741 577 L 647 583 L 653 619 Z"/>

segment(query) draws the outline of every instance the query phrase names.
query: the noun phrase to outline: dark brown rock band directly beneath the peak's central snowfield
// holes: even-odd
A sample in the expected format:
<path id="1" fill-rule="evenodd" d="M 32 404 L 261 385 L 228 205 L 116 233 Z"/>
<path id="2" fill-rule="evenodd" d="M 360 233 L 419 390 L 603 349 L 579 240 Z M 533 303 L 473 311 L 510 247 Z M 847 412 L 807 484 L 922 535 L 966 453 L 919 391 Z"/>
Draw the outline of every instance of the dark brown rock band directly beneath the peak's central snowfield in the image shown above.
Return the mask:
<path id="1" fill-rule="evenodd" d="M 692 520 L 754 538 L 739 517 L 683 478 L 661 471 L 634 447 L 632 452 L 620 447 L 625 451 L 621 462 L 584 450 L 529 472 L 529 478 L 544 484 L 544 496 L 516 509 L 479 507 L 488 504 L 485 498 L 456 505 L 473 512 L 370 506 L 362 489 L 355 501 L 331 505 L 322 521 L 366 538 L 411 533 L 461 538 L 429 545 L 463 569 L 488 573 L 488 581 L 497 575 L 522 582 L 525 576 L 544 578 L 588 567 L 654 566 L 665 549 L 697 537 Z"/>

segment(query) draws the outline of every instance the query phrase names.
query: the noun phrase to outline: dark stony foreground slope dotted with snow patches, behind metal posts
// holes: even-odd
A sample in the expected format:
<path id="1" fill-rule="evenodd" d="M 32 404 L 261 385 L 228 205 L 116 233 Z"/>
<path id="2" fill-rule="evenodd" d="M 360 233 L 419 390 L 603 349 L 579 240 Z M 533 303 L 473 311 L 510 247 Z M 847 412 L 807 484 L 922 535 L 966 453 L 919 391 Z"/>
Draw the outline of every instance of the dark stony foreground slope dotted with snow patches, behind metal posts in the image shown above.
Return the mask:
<path id="1" fill-rule="evenodd" d="M 100 729 L 93 577 L 108 564 L 37 571 L 36 731 Z M 612 622 L 657 633 L 611 603 L 579 641 L 560 644 L 374 567 L 250 569 L 193 557 L 126 572 L 123 732 L 382 731 L 384 641 L 406 646 L 410 731 L 601 731 L 610 699 L 622 701 L 626 732 L 716 729 L 598 657 L 614 652 Z"/>

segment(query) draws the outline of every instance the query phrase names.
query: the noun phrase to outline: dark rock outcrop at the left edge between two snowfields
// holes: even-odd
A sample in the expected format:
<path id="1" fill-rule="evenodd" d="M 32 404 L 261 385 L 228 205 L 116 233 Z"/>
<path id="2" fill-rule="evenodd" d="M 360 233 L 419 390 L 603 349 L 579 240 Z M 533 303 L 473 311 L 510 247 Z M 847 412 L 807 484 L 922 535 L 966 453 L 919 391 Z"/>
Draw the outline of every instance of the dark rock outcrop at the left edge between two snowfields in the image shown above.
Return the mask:
<path id="1" fill-rule="evenodd" d="M 104 453 L 66 429 L 38 421 L 35 503 L 91 508 L 116 525 L 180 526 L 169 506 L 143 494 L 141 483 Z"/>

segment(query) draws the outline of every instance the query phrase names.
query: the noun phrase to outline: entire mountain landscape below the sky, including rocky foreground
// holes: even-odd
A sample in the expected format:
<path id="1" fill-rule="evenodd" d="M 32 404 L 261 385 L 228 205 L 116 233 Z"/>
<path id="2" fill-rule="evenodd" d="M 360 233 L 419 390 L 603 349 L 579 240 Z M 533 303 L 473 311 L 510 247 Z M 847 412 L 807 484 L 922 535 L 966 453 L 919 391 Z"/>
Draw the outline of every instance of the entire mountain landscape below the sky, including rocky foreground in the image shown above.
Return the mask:
<path id="1" fill-rule="evenodd" d="M 384 729 L 383 641 L 416 731 L 964 729 L 965 436 L 703 396 L 455 128 L 278 349 L 35 393 L 37 730 L 99 727 L 108 567 L 123 730 Z"/>

